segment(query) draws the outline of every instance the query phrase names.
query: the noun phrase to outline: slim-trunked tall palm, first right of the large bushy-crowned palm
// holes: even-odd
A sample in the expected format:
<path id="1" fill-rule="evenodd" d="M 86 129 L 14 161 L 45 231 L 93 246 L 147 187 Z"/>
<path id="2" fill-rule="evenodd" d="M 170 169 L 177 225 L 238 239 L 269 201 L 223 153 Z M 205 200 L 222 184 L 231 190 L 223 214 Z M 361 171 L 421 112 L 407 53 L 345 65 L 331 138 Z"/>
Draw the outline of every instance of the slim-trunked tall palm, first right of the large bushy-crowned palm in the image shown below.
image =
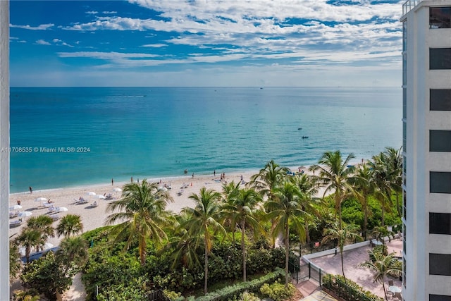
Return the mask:
<path id="1" fill-rule="evenodd" d="M 196 245 L 204 243 L 204 292 L 208 291 L 208 274 L 209 274 L 209 253 L 214 240 L 214 231 L 220 231 L 226 235 L 226 229 L 219 223 L 221 221 L 221 206 L 219 199 L 221 194 L 214 190 L 206 190 L 201 188 L 199 195 L 193 193 L 190 199 L 194 200 L 196 206 L 194 208 L 184 208 L 183 213 L 190 216 L 185 227 L 189 229 L 188 235 L 196 238 Z"/>

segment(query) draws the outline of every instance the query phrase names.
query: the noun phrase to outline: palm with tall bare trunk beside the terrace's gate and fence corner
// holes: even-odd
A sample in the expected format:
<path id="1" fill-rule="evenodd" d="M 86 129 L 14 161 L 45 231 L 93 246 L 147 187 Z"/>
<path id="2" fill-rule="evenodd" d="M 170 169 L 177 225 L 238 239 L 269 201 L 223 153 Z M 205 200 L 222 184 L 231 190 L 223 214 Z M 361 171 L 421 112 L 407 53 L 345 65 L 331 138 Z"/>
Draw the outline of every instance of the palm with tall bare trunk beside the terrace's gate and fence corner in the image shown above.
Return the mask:
<path id="1" fill-rule="evenodd" d="M 302 192 L 297 185 L 286 181 L 274 188 L 273 199 L 269 199 L 264 207 L 268 212 L 268 219 L 273 221 L 273 238 L 283 233 L 285 242 L 285 286 L 288 286 L 288 260 L 290 255 L 290 224 L 299 233 L 301 240 L 305 238 L 302 219 L 309 216 L 301 206 Z"/>

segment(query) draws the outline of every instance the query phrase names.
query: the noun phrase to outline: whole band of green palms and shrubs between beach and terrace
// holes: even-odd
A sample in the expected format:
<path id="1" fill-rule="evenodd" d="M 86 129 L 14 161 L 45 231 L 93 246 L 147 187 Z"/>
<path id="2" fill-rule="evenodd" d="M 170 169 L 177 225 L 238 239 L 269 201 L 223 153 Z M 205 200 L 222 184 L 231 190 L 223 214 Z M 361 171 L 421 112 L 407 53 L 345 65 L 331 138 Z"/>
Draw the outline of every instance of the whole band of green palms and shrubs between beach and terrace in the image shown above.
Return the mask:
<path id="1" fill-rule="evenodd" d="M 202 188 L 193 193 L 194 207 L 180 214 L 166 209 L 171 196 L 157 183 L 129 183 L 109 204 L 103 228 L 79 235 L 80 216 L 65 216 L 55 229 L 44 219 L 32 220 L 12 240 L 11 271 L 20 269 L 14 264 L 17 247 L 25 249 L 28 262 L 32 250 L 56 233 L 64 236 L 60 250 L 25 264 L 19 273 L 30 288 L 50 298 L 65 290 L 78 271 L 88 300 L 94 295 L 97 300 L 146 300 L 153 290 L 174 298 L 206 295 L 260 283 L 256 279 L 278 268 L 283 278 L 273 286 L 279 278 L 271 278 L 263 290 L 279 290 L 280 283 L 287 290 L 298 246 L 305 250 L 321 242 L 338 247 L 342 256 L 347 243 L 370 233 L 376 238 L 385 224 L 400 224 L 399 156 L 397 149 L 387 148 L 354 164 L 353 154 L 325 152 L 311 166 L 313 174 L 292 173 L 269 161 L 245 185 L 232 182 L 221 192 Z M 342 274 L 346 283 L 343 262 Z M 252 292 L 261 295 L 262 285 Z M 230 299 L 243 292 L 230 293 Z"/>

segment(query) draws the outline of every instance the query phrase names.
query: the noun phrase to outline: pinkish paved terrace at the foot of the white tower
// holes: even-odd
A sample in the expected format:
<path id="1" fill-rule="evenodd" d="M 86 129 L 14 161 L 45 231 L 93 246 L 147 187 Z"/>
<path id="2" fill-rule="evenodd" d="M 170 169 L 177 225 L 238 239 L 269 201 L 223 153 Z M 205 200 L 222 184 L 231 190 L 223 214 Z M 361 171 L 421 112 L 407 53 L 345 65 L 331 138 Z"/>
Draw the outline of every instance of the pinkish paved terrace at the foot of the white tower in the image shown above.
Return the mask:
<path id="1" fill-rule="evenodd" d="M 395 239 L 387 243 L 388 253 L 395 252 L 397 256 L 400 256 L 402 250 L 402 240 Z M 371 291 L 371 293 L 384 297 L 382 283 L 375 283 L 373 281 L 373 272 L 369 269 L 360 267 L 359 264 L 369 260 L 368 251 L 371 249 L 369 245 L 365 247 L 359 247 L 354 250 L 343 252 L 343 264 L 345 266 L 345 276 L 352 281 L 358 283 L 365 290 Z M 321 270 L 328 274 L 342 275 L 340 252 L 336 255 L 326 255 L 311 259 L 311 262 L 319 266 Z M 388 288 L 388 280 L 393 280 L 393 284 L 401 287 L 402 282 L 399 279 L 392 277 L 385 277 L 385 288 Z"/>

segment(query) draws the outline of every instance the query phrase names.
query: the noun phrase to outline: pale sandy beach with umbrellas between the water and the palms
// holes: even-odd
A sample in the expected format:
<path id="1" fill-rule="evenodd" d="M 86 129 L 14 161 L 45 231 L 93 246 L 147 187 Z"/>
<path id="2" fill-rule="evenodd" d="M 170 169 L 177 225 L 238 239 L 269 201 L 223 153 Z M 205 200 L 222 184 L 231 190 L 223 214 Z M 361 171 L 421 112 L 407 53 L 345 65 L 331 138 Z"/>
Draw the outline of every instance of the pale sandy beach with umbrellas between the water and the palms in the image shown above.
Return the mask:
<path id="1" fill-rule="evenodd" d="M 292 171 L 295 169 L 292 168 Z M 250 177 L 257 173 L 258 171 L 249 171 L 245 173 L 226 173 L 226 178 L 224 181 L 230 183 L 235 181 L 235 183 L 240 183 L 241 177 L 247 182 Z M 173 211 L 175 213 L 180 212 L 184 207 L 192 207 L 194 202 L 189 199 L 192 193 L 199 193 L 202 187 L 207 189 L 216 190 L 218 192 L 222 191 L 222 185 L 224 183 L 215 179 L 219 179 L 221 176 L 221 171 L 216 172 L 216 176 L 213 173 L 211 175 L 196 176 L 194 178 L 189 174 L 188 176 L 179 178 L 161 178 L 161 186 L 171 185 L 171 190 L 168 190 L 171 197 L 173 197 L 174 202 L 169 203 L 166 209 Z M 160 179 L 148 179 L 151 182 L 159 183 Z M 51 190 L 33 190 L 30 192 L 19 192 L 13 193 L 9 197 L 9 206 L 17 204 L 18 199 L 20 199 L 20 204 L 22 209 L 16 211 L 27 211 L 31 212 L 31 216 L 39 216 L 41 214 L 47 214 L 49 216 L 58 215 L 60 218 L 66 214 L 78 214 L 82 218 L 83 232 L 93 230 L 104 226 L 104 220 L 109 213 L 106 212 L 106 206 L 109 202 L 114 202 L 114 200 L 121 197 L 121 192 L 115 192 L 114 188 L 122 188 L 125 183 L 105 183 L 104 185 L 90 185 L 84 187 L 76 188 L 58 188 Z M 185 185 L 186 188 L 183 190 L 182 195 L 178 195 L 180 188 Z M 88 192 L 95 192 L 96 195 L 88 195 Z M 112 199 L 99 199 L 98 195 L 112 195 Z M 87 200 L 85 204 L 76 204 L 76 201 L 83 197 Z M 59 213 L 51 213 L 49 207 L 43 205 L 44 201 L 36 201 L 37 198 L 50 199 L 51 204 L 54 207 L 66 207 L 68 211 L 63 211 Z M 97 202 L 98 206 L 93 207 L 92 204 Z M 19 217 L 10 219 L 10 221 L 18 221 Z M 20 231 L 25 227 L 26 221 L 29 217 L 22 217 L 23 223 L 20 226 L 16 226 L 9 229 L 9 235 L 15 235 L 20 233 Z M 54 221 L 54 226 L 58 225 L 58 220 Z M 13 236 L 14 237 L 14 236 Z M 59 244 L 61 238 L 49 238 L 48 242 L 56 246 Z"/>

